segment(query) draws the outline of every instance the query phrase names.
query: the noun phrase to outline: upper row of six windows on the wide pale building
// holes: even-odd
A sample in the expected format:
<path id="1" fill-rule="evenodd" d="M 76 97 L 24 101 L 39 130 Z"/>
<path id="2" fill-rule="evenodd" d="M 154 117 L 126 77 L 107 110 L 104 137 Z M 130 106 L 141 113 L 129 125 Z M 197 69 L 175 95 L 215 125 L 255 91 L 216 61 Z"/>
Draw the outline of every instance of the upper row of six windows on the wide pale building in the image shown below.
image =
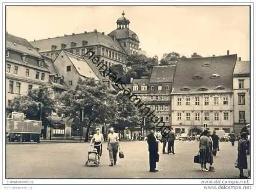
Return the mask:
<path id="1" fill-rule="evenodd" d="M 191 98 L 186 98 L 186 105 L 191 105 Z M 181 105 L 182 98 L 177 98 L 177 105 Z M 195 97 L 195 105 L 200 105 L 200 97 Z M 204 105 L 209 105 L 209 97 L 204 97 Z M 219 97 L 214 97 L 213 105 L 219 105 Z M 228 105 L 228 97 L 223 97 L 223 105 Z"/>

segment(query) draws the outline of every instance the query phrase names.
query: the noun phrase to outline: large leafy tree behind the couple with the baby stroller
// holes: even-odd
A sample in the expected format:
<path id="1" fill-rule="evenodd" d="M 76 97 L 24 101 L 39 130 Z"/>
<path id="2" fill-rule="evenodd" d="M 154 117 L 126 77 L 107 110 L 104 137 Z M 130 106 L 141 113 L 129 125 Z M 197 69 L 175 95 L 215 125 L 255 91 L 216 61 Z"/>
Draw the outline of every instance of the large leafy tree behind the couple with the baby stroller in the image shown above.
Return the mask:
<path id="1" fill-rule="evenodd" d="M 108 88 L 93 78 L 79 78 L 75 90 L 62 93 L 59 97 L 58 113 L 68 120 L 86 126 L 85 142 L 88 142 L 90 127 L 93 124 L 110 122 L 116 115 L 115 97 L 109 93 Z M 81 111 L 83 110 L 83 118 Z"/>

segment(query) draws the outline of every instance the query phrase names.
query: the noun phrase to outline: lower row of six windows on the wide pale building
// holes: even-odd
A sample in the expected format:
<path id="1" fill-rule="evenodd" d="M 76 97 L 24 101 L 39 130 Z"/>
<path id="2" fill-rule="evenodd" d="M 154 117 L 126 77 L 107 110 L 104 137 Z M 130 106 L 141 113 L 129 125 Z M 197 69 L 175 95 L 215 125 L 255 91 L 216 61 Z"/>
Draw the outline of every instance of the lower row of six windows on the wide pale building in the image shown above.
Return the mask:
<path id="1" fill-rule="evenodd" d="M 177 113 L 177 120 L 181 120 L 181 112 Z M 210 120 L 210 113 L 209 112 L 204 112 L 204 120 L 209 121 Z M 220 113 L 219 112 L 214 112 L 213 115 L 214 121 L 219 121 L 220 119 Z M 223 112 L 223 119 L 224 120 L 229 120 L 229 113 L 228 112 Z M 189 121 L 191 120 L 191 113 L 186 112 L 185 113 L 185 120 Z M 200 121 L 200 112 L 195 113 L 195 121 Z"/>

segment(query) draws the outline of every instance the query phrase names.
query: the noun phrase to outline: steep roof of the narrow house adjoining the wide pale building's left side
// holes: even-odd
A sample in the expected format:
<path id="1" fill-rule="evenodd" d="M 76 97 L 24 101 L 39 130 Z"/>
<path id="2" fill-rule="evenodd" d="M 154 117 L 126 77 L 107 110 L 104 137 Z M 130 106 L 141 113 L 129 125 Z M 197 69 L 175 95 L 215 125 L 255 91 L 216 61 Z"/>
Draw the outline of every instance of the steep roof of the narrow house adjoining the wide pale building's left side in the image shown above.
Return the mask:
<path id="1" fill-rule="evenodd" d="M 154 66 L 150 75 L 150 83 L 172 83 L 175 68 L 175 65 Z"/>

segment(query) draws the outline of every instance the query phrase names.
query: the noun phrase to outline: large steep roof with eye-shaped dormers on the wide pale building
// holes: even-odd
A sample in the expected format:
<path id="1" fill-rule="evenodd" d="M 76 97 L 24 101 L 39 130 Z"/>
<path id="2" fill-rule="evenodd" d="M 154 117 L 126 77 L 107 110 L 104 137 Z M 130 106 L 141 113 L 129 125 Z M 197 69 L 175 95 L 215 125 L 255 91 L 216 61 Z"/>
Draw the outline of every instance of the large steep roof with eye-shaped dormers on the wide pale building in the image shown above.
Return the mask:
<path id="1" fill-rule="evenodd" d="M 172 94 L 232 92 L 237 55 L 180 59 Z"/>

